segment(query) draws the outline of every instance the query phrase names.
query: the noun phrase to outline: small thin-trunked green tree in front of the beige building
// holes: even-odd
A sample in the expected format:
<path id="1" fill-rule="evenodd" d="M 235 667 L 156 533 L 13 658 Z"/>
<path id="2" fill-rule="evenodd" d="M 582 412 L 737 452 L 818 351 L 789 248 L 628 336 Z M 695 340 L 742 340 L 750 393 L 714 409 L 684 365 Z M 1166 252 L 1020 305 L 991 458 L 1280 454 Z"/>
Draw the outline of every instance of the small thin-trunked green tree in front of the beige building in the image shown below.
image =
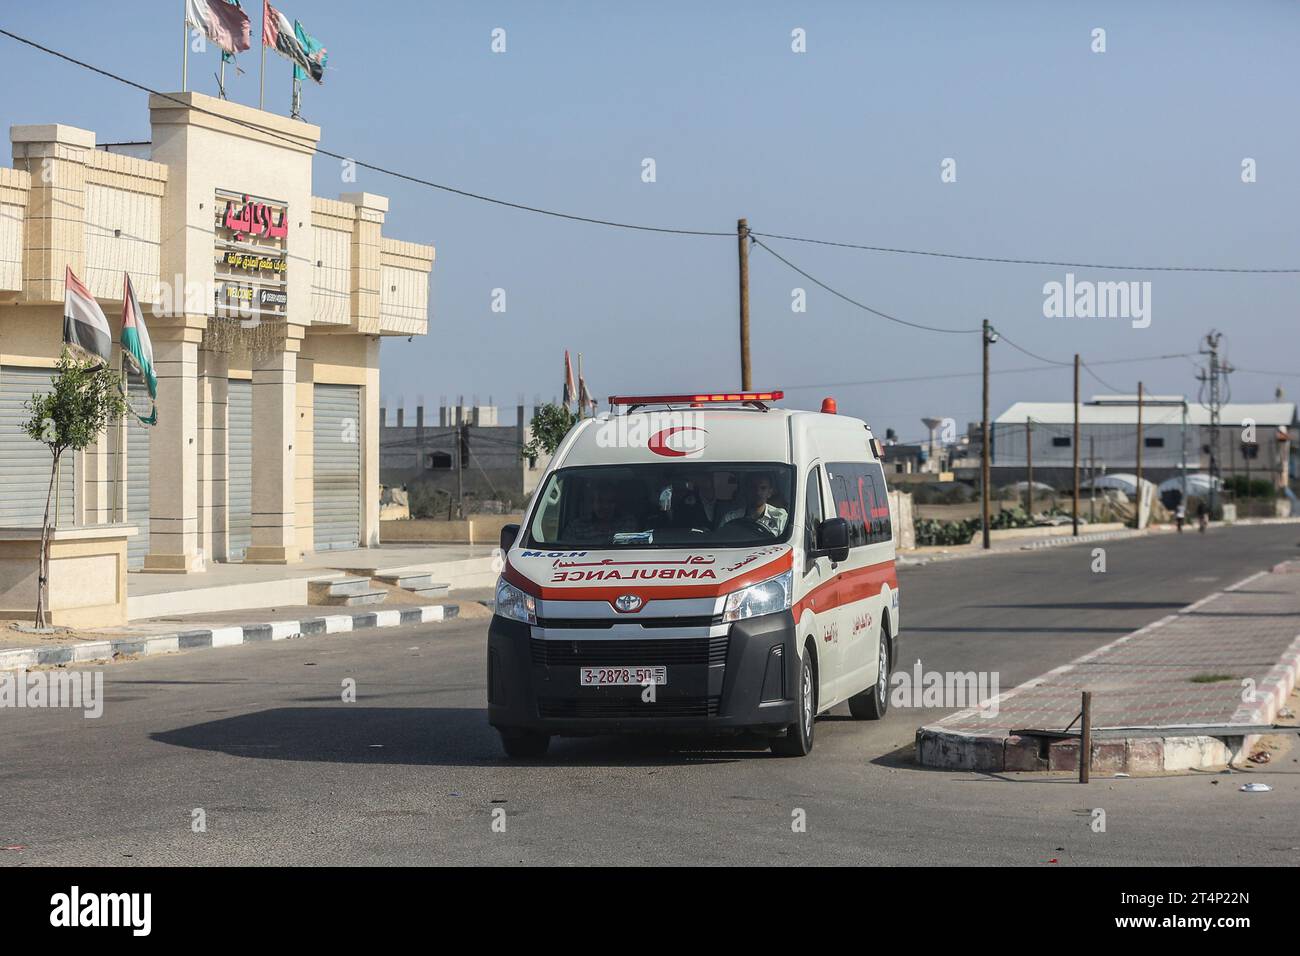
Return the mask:
<path id="1" fill-rule="evenodd" d="M 36 627 L 46 627 L 49 588 L 49 502 L 55 496 L 58 463 L 65 451 L 82 451 L 100 433 L 126 414 L 117 373 L 98 362 L 82 362 L 64 349 L 58 356 L 53 389 L 34 394 L 23 407 L 31 418 L 21 428 L 32 441 L 49 447 L 49 488 L 46 490 L 46 516 L 40 525 L 40 570 L 36 575 Z"/>

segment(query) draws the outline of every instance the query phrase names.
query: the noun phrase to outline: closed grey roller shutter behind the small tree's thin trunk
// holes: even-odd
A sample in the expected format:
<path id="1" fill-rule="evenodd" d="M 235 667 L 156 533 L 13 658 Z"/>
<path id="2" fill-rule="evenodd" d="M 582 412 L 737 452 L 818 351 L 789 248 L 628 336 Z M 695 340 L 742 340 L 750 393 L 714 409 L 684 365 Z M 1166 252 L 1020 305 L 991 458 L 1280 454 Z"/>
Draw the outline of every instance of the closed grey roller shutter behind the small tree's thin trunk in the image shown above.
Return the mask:
<path id="1" fill-rule="evenodd" d="M 39 528 L 49 490 L 49 449 L 20 427 L 30 418 L 22 403 L 49 392 L 52 369 L 0 367 L 0 528 Z M 58 527 L 69 528 L 77 502 L 75 451 L 58 464 Z M 55 502 L 49 503 L 51 523 Z"/>

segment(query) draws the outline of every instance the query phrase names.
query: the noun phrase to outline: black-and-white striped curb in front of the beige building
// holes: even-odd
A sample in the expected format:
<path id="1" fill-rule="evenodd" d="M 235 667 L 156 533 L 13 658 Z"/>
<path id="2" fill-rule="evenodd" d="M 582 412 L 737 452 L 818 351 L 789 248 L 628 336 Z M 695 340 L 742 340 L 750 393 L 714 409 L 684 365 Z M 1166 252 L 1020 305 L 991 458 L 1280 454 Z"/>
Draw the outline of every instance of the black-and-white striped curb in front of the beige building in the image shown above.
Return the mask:
<path id="1" fill-rule="evenodd" d="M 400 624 L 429 624 L 451 620 L 460 613 L 456 605 L 420 605 L 358 614 L 326 614 L 302 620 L 272 620 L 263 624 L 192 628 L 177 633 L 150 635 L 148 637 L 116 637 L 104 641 L 86 641 L 57 648 L 17 648 L 0 650 L 0 671 L 26 670 L 51 665 L 91 663 L 110 661 L 130 654 L 152 657 L 179 650 L 203 648 L 233 648 L 240 644 L 283 641 L 318 633 L 346 633 L 372 627 L 399 627 Z"/>

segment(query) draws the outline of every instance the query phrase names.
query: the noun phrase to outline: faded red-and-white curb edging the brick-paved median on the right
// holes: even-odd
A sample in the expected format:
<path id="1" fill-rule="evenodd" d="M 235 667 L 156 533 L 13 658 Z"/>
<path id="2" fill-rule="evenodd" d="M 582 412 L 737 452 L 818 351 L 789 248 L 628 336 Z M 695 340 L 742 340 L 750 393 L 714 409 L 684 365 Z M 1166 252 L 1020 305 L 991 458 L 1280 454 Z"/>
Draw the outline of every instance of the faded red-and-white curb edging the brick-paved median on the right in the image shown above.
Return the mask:
<path id="1" fill-rule="evenodd" d="M 1271 568 L 1271 574 L 1300 572 L 1300 562 L 1283 562 Z M 1071 670 L 1097 654 L 1123 644 L 1153 628 L 1161 627 L 1197 606 L 1210 601 L 1222 592 L 1235 591 L 1248 581 L 1270 574 L 1258 571 L 1221 592 L 1206 594 L 1174 614 L 1154 620 L 1132 633 L 1127 633 L 1105 646 L 1097 648 L 1070 663 L 1062 665 L 1048 674 L 1019 684 L 1000 695 L 1004 701 L 1018 691 L 1037 685 L 1044 678 Z M 1243 704 L 1232 714 L 1230 723 L 1243 727 L 1269 724 L 1277 719 L 1278 710 L 1286 704 L 1300 680 L 1300 636 L 1297 636 L 1282 658 L 1274 665 L 1256 687 L 1256 698 Z M 944 718 L 948 719 L 948 718 Z M 936 770 L 972 770 L 982 773 L 1043 771 L 1061 770 L 1078 773 L 1079 740 L 1050 740 L 1039 736 L 1019 736 L 1006 731 L 996 734 L 970 734 L 945 730 L 940 724 L 927 724 L 916 728 L 916 762 Z M 1131 736 L 1095 739 L 1089 754 L 1089 769 L 1098 773 L 1170 773 L 1178 770 L 1205 770 L 1214 766 L 1231 765 L 1238 757 L 1251 752 L 1260 735 L 1210 736 L 1204 732 L 1205 724 L 1183 724 L 1169 727 L 1132 727 Z M 1182 732 L 1179 732 L 1182 731 Z"/>

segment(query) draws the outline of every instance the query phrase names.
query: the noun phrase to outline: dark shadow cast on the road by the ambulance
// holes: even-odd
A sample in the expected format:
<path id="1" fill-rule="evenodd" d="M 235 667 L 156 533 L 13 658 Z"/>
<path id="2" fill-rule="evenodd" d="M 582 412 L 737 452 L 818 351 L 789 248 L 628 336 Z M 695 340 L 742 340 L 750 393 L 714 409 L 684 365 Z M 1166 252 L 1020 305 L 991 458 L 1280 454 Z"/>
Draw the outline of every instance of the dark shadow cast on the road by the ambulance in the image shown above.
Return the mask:
<path id="1" fill-rule="evenodd" d="M 480 708 L 273 708 L 151 734 L 172 747 L 256 760 L 484 766 L 670 766 L 768 758 L 757 737 L 556 737 L 536 761 L 510 761 Z"/>

